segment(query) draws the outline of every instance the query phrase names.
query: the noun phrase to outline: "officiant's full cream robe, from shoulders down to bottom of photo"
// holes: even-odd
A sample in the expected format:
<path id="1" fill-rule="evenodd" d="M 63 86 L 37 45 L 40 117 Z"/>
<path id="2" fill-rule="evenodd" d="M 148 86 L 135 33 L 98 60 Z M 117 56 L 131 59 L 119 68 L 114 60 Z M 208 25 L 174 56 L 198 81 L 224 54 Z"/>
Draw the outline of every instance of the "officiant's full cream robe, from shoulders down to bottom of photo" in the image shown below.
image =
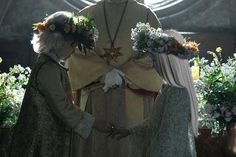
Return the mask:
<path id="1" fill-rule="evenodd" d="M 107 19 L 112 38 L 124 6 L 125 2 L 106 2 Z M 85 8 L 80 14 L 93 16 L 99 31 L 94 52 L 85 56 L 77 51 L 67 63 L 70 69 L 72 88 L 74 90 L 81 89 L 83 94 L 87 93 L 88 95 L 88 100 L 81 97 L 81 100 L 85 101 L 81 101 L 80 105 L 82 108 L 86 105 L 85 110 L 96 118 L 111 120 L 120 126 L 130 127 L 142 121 L 150 110 L 150 105 L 153 102 L 152 97 L 137 95 L 126 86 L 110 89 L 106 93 L 103 92 L 101 84 L 86 86 L 116 68 L 125 74 L 124 79 L 131 82 L 132 88 L 158 91 L 162 79 L 153 69 L 151 58 L 144 56 L 136 59 L 130 39 L 131 28 L 134 28 L 137 22 L 149 22 L 153 27 L 160 26 L 157 17 L 149 8 L 134 0 L 129 0 L 114 45 L 121 47 L 120 52 L 123 56 L 118 58 L 118 62 L 112 61 L 108 65 L 101 57 L 105 53 L 103 48 L 110 48 L 103 13 L 103 1 Z M 78 151 L 74 154 L 76 157 L 126 157 L 129 151 L 127 139 L 120 142 L 113 141 L 96 131 L 86 141 L 80 139 L 78 145 L 75 144 L 75 147 L 78 147 Z"/>

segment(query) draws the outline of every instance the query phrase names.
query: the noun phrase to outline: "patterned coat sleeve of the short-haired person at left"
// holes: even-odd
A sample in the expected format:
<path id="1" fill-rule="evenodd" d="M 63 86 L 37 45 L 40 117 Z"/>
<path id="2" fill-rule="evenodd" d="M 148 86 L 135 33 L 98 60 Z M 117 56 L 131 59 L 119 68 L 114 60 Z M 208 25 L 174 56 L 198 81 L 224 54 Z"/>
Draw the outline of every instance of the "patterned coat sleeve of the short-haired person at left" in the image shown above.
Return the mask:
<path id="1" fill-rule="evenodd" d="M 50 62 L 44 64 L 37 77 L 39 89 L 56 116 L 80 136 L 87 138 L 92 130 L 95 118 L 72 104 L 62 85 L 61 77 L 68 76 L 67 74 L 62 75 L 58 65 Z"/>

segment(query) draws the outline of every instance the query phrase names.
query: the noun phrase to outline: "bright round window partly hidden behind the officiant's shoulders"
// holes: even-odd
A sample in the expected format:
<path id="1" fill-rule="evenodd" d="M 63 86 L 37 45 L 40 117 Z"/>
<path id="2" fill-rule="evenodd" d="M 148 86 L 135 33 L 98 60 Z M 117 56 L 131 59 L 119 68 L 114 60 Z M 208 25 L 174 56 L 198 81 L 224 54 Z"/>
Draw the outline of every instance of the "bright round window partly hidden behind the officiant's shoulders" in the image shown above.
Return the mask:
<path id="1" fill-rule="evenodd" d="M 80 10 L 88 5 L 92 5 L 99 0 L 63 0 L 76 10 Z M 158 17 L 171 16 L 180 13 L 200 0 L 137 0 L 146 4 L 158 14 Z"/>

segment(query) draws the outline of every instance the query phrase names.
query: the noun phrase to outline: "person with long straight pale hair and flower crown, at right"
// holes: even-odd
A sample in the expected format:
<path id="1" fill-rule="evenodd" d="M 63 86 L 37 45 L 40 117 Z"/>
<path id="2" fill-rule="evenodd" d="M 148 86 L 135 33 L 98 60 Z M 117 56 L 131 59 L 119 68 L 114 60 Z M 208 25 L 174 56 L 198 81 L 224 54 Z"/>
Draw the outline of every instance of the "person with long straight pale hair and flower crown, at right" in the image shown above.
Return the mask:
<path id="1" fill-rule="evenodd" d="M 196 157 L 198 110 L 188 57 L 198 51 L 198 45 L 186 44 L 175 30 L 161 34 L 163 40 L 155 39 L 156 46 L 150 44 L 146 49 L 164 80 L 152 114 L 130 129 L 116 129 L 113 136 L 122 139 L 130 135 L 130 157 Z"/>

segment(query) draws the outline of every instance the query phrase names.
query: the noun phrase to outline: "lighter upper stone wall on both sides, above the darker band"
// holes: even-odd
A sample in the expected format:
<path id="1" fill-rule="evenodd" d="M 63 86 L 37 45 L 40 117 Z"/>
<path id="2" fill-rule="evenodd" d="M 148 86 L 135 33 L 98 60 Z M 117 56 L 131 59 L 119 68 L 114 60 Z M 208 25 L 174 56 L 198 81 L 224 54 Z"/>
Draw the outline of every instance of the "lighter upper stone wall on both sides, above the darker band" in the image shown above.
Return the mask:
<path id="1" fill-rule="evenodd" d="M 32 23 L 58 10 L 77 11 L 72 6 L 78 5 L 74 1 L 2 0 L 0 38 L 30 38 Z M 176 11 L 175 14 L 160 17 L 160 20 L 164 28 L 180 31 L 236 33 L 235 7 L 235 0 L 198 0 L 194 5 Z M 157 16 L 158 14 L 157 11 Z"/>

